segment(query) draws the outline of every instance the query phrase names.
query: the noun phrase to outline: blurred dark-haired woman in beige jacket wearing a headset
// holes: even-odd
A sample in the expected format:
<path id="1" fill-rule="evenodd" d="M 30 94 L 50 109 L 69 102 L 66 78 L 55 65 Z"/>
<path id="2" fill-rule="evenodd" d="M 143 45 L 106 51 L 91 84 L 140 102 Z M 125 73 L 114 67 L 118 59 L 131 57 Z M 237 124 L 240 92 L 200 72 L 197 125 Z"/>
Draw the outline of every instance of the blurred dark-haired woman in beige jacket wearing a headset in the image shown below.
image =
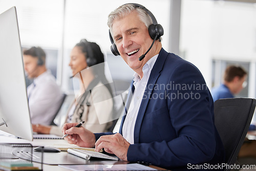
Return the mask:
<path id="1" fill-rule="evenodd" d="M 108 131 L 111 122 L 100 124 L 99 119 L 110 121 L 113 112 L 112 92 L 105 78 L 103 62 L 104 56 L 95 42 L 82 39 L 71 51 L 69 66 L 74 79 L 79 79 L 81 95 L 70 105 L 65 122 L 84 120 L 82 126 L 94 133 Z M 95 102 L 101 102 L 100 109 L 96 109 Z M 62 136 L 59 126 L 37 124 L 32 127 L 34 132 L 40 134 Z"/>

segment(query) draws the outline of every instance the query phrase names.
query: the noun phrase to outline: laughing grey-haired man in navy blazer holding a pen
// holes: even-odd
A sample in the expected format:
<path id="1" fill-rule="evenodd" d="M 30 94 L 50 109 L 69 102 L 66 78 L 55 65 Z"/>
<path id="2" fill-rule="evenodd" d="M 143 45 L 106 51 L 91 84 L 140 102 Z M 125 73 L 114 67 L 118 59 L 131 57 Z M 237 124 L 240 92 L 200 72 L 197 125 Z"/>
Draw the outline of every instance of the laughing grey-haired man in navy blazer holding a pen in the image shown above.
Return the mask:
<path id="1" fill-rule="evenodd" d="M 104 148 L 131 162 L 168 169 L 222 163 L 224 149 L 203 76 L 162 49 L 163 30 L 151 14 L 126 4 L 109 15 L 112 50 L 135 71 L 119 133 L 93 134 L 72 127 L 76 123 L 64 125 L 62 132 L 69 134 L 69 143 L 95 146 L 97 152 Z"/>

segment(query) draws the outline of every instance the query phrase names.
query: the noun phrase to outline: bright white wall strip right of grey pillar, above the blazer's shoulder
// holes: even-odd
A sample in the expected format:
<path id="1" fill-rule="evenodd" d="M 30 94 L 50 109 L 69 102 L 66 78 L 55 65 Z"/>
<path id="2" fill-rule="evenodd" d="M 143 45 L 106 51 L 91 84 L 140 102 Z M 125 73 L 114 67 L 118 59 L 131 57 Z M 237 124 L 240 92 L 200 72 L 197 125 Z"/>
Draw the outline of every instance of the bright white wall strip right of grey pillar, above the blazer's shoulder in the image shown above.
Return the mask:
<path id="1" fill-rule="evenodd" d="M 182 1 L 180 51 L 186 60 L 202 72 L 207 85 L 211 82 L 212 1 Z"/>

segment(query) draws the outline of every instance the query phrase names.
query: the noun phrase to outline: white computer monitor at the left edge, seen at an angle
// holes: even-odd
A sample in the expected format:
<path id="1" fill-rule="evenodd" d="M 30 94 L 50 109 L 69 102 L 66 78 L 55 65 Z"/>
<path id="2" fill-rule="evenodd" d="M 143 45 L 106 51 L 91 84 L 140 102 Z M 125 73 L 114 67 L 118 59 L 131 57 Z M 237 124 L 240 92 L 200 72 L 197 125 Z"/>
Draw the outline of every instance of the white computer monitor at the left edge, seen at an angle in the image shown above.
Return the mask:
<path id="1" fill-rule="evenodd" d="M 0 130 L 33 140 L 16 8 L 0 14 Z"/>

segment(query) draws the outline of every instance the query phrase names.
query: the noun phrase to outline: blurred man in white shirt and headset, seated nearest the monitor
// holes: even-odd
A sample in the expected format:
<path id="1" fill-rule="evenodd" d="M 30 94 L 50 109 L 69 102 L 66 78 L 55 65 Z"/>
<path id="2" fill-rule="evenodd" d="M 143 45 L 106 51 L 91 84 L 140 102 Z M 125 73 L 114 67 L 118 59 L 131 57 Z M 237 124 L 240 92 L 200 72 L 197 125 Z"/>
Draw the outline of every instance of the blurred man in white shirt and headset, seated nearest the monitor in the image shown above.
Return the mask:
<path id="1" fill-rule="evenodd" d="M 63 95 L 55 77 L 46 68 L 44 50 L 31 47 L 23 54 L 27 76 L 34 79 L 27 88 L 31 122 L 50 125 L 61 105 Z"/>

